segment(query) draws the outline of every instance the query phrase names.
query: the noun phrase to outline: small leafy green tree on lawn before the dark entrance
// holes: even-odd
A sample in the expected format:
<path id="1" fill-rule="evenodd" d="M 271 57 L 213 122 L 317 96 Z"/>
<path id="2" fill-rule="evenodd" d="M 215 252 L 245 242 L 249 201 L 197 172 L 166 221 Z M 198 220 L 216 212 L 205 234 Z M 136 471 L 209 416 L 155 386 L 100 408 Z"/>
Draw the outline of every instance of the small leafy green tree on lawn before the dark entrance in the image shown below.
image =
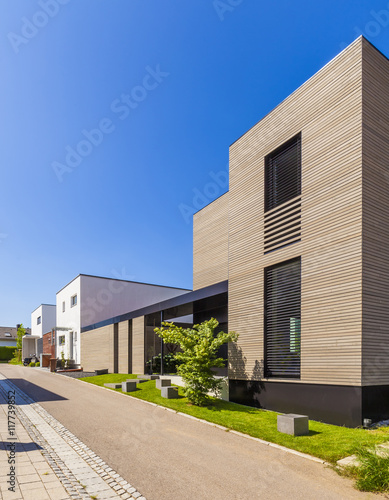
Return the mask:
<path id="1" fill-rule="evenodd" d="M 238 339 L 235 332 L 215 334 L 218 325 L 219 322 L 211 318 L 193 328 L 182 328 L 174 323 L 164 322 L 161 328 L 154 330 L 164 342 L 181 347 L 182 352 L 176 354 L 181 363 L 177 367 L 177 373 L 185 383 L 185 396 L 197 406 L 207 403 L 208 392 L 213 392 L 215 396 L 220 394 L 221 380 L 215 378 L 212 369 L 223 367 L 225 360 L 217 357 L 217 351 L 226 342 Z"/>

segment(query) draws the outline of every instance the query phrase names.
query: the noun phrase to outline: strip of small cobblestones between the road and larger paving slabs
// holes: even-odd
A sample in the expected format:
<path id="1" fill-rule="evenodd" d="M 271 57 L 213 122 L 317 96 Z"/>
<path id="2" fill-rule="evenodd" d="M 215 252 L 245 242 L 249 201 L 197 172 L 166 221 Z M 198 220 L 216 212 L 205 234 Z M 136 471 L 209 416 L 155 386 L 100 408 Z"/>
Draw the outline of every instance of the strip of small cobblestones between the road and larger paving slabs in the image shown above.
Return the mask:
<path id="1" fill-rule="evenodd" d="M 3 404 L 7 401 L 10 390 L 16 393 L 15 409 L 19 421 L 32 442 L 41 448 L 41 454 L 67 491 L 69 499 L 146 500 L 136 488 L 110 468 L 41 405 L 0 374 L 0 396 Z M 13 498 L 16 500 L 16 498 L 33 497 Z"/>

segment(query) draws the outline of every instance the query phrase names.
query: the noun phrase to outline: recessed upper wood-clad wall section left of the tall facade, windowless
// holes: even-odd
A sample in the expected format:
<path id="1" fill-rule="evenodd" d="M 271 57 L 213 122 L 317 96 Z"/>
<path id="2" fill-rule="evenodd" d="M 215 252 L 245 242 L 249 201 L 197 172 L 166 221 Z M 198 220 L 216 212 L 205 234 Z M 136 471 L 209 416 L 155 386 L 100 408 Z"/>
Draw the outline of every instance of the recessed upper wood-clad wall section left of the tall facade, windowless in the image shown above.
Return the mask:
<path id="1" fill-rule="evenodd" d="M 228 193 L 193 216 L 193 289 L 228 279 Z"/>

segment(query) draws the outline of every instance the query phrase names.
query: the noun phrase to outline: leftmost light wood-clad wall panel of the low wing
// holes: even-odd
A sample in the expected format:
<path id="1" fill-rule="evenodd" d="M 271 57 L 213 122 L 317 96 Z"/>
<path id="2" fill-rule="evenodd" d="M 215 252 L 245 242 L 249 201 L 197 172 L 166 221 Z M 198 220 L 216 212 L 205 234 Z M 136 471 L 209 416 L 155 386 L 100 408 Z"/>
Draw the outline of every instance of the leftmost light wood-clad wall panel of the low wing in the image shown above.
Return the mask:
<path id="1" fill-rule="evenodd" d="M 81 333 L 81 364 L 86 372 L 108 368 L 114 373 L 114 325 Z"/>

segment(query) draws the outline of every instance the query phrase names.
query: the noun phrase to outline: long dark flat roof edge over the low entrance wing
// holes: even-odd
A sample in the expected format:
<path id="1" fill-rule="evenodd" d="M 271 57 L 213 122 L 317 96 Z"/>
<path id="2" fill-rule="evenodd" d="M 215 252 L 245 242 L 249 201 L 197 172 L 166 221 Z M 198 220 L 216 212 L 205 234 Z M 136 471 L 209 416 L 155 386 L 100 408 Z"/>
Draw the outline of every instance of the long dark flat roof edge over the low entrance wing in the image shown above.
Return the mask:
<path id="1" fill-rule="evenodd" d="M 162 302 L 156 302 L 155 304 L 152 304 L 150 306 L 143 307 L 135 311 L 129 311 L 128 313 L 114 316 L 113 318 L 100 321 L 99 323 L 84 326 L 83 328 L 81 328 L 81 333 L 88 332 L 90 330 L 96 330 L 97 328 L 112 325 L 114 323 L 128 321 L 133 318 L 139 318 L 140 316 L 146 316 L 147 314 L 164 311 L 173 307 L 190 304 L 198 300 L 207 299 L 209 297 L 221 295 L 226 292 L 228 292 L 228 280 L 221 281 L 220 283 L 216 283 L 215 285 L 210 285 L 205 288 L 200 288 L 199 290 L 194 290 L 193 292 L 184 293 L 183 295 L 178 295 L 177 297 L 163 300 Z"/>

